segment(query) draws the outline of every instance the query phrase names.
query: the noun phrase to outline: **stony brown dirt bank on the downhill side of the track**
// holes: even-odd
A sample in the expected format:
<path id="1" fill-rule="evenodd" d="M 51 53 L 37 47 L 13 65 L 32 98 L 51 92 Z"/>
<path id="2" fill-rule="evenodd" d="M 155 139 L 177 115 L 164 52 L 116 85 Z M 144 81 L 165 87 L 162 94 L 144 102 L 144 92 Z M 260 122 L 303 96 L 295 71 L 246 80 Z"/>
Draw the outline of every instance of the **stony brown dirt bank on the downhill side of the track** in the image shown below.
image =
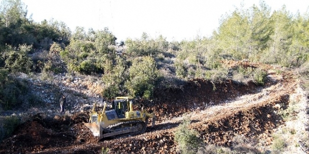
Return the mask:
<path id="1" fill-rule="evenodd" d="M 272 129 L 283 123 L 280 116 L 274 114 L 276 104 L 286 108 L 289 95 L 280 95 L 271 100 L 250 107 L 221 111 L 221 115 L 207 121 L 193 123 L 192 127 L 203 137 L 205 143 L 230 146 L 232 137 L 244 135 L 257 137 L 271 134 Z"/>

